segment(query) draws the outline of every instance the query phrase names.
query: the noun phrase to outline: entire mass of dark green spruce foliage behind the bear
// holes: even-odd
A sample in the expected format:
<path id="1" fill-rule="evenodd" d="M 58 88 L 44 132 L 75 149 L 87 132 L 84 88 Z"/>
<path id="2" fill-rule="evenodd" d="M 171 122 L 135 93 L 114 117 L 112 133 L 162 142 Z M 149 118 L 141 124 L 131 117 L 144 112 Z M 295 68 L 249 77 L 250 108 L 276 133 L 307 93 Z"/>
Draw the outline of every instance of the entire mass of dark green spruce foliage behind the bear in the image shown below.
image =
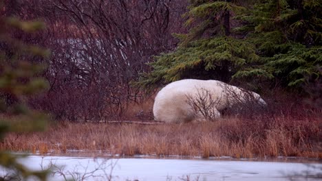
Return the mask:
<path id="1" fill-rule="evenodd" d="M 321 1 L 191 1 L 188 34 L 138 84 L 184 78 L 305 89 L 321 79 Z"/>

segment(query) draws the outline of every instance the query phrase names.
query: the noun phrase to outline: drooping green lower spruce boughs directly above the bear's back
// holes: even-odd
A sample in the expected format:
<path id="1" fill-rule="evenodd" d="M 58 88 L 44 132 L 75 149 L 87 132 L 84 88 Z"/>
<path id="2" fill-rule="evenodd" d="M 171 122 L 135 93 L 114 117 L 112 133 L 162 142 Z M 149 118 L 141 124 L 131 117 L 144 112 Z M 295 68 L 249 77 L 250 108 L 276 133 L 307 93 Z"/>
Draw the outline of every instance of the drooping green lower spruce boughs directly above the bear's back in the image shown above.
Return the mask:
<path id="1" fill-rule="evenodd" d="M 220 36 L 195 40 L 155 59 L 149 79 L 140 82 L 144 87 L 184 78 L 229 80 L 245 64 L 256 62 L 258 56 L 250 43 Z"/>

